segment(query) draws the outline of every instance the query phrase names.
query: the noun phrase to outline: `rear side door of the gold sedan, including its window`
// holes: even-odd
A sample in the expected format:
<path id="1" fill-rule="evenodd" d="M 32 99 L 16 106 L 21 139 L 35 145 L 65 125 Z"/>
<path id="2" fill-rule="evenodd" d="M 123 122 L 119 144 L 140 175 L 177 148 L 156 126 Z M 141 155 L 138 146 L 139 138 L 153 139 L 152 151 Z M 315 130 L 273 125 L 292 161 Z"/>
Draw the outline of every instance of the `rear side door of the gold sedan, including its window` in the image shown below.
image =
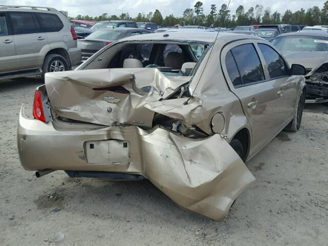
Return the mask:
<path id="1" fill-rule="evenodd" d="M 251 40 L 240 40 L 223 48 L 221 63 L 229 87 L 241 101 L 252 129 L 250 156 L 276 134 L 277 99 L 275 81 L 268 80 Z"/>

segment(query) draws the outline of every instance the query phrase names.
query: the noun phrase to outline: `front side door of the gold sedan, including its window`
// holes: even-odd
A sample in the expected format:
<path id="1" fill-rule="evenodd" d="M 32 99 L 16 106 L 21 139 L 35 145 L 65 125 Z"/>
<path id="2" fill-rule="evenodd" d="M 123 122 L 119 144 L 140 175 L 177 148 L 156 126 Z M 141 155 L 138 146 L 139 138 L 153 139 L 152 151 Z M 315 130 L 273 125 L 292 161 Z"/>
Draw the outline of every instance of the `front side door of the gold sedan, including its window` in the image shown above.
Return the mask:
<path id="1" fill-rule="evenodd" d="M 271 46 L 258 43 L 265 60 L 270 79 L 274 81 L 277 97 L 277 126 L 284 128 L 293 118 L 297 96 L 297 78 L 290 76 L 289 68 L 284 59 Z"/>

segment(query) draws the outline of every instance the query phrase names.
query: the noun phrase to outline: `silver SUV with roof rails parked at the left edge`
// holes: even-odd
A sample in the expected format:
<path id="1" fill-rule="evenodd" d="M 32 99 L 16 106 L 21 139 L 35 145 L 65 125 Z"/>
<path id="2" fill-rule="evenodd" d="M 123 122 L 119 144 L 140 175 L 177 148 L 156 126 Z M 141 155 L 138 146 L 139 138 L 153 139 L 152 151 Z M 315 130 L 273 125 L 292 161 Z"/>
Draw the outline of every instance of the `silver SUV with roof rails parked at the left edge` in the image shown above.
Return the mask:
<path id="1" fill-rule="evenodd" d="M 70 70 L 80 58 L 76 32 L 62 12 L 0 6 L 0 79 Z"/>

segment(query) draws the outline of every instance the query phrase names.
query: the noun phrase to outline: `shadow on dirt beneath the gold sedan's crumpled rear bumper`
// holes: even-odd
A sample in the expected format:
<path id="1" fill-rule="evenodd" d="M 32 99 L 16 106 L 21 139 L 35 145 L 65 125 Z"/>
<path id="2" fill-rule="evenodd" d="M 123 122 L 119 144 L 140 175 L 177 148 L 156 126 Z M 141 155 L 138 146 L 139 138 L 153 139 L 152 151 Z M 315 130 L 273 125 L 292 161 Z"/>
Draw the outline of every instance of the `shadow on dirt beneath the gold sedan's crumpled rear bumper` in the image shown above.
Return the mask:
<path id="1" fill-rule="evenodd" d="M 49 199 L 49 195 L 52 199 Z M 180 208 L 147 179 L 110 181 L 63 177 L 58 179 L 58 185 L 47 190 L 47 193 L 40 194 L 34 203 L 41 211 L 59 208 L 67 213 L 80 213 L 86 217 L 97 216 L 105 219 L 151 221 L 156 218 L 160 221 L 169 221 L 174 214 L 174 217 L 185 223 L 212 221 Z"/>

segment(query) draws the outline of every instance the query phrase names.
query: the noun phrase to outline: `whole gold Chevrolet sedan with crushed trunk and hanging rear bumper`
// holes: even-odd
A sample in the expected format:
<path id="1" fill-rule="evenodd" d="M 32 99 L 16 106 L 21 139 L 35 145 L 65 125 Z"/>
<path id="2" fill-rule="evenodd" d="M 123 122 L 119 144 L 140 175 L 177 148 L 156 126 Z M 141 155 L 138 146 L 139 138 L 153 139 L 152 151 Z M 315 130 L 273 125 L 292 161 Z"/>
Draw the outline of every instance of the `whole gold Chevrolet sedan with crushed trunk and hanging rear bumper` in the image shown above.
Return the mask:
<path id="1" fill-rule="evenodd" d="M 219 220 L 255 180 L 244 161 L 282 129 L 299 129 L 304 73 L 251 35 L 121 39 L 75 71 L 46 74 L 34 119 L 20 110 L 20 161 L 38 176 L 147 178 Z"/>

